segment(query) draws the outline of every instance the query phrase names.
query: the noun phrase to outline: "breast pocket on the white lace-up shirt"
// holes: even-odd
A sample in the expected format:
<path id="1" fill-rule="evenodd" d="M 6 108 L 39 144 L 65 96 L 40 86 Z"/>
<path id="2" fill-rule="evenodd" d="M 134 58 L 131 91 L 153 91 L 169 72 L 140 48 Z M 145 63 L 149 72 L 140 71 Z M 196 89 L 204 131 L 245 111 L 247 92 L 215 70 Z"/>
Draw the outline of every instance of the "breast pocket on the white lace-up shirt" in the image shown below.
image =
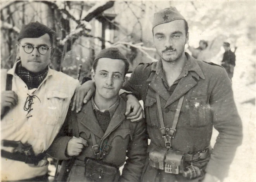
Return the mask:
<path id="1" fill-rule="evenodd" d="M 60 91 L 48 90 L 46 93 L 46 98 L 46 124 L 56 125 L 59 121 L 64 121 L 64 118 L 66 117 L 66 115 L 64 115 L 64 109 L 66 108 L 64 103 L 68 98 L 68 94 Z"/>

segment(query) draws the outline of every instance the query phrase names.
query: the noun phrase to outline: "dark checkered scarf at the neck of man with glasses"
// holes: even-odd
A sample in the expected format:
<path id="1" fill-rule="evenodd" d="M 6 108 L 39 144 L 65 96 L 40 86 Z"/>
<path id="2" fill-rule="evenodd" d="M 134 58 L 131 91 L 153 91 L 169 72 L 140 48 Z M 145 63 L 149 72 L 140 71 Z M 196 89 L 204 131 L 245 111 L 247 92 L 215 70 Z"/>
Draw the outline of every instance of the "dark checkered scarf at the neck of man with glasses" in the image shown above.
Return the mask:
<path id="1" fill-rule="evenodd" d="M 41 72 L 33 73 L 22 67 L 21 62 L 17 64 L 16 74 L 26 83 L 28 89 L 38 88 L 48 73 L 48 67 Z"/>

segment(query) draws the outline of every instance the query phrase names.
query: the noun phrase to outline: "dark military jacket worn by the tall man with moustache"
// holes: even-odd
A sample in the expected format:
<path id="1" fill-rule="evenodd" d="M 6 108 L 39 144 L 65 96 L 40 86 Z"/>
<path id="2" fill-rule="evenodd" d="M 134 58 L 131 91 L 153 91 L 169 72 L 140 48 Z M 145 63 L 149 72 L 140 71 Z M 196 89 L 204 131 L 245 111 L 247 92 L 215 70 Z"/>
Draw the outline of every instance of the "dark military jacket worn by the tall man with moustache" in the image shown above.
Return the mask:
<path id="1" fill-rule="evenodd" d="M 223 179 L 242 141 L 242 123 L 231 82 L 223 67 L 196 60 L 188 53 L 185 55 L 185 67 L 169 89 L 161 61 L 139 64 L 124 89 L 144 101 L 150 146 L 162 148 L 165 143 L 159 130 L 156 93 L 160 95 L 165 127 L 172 127 L 178 100 L 185 95 L 172 148 L 184 154 L 195 154 L 207 148 L 214 126 L 219 134 L 206 172 Z"/>

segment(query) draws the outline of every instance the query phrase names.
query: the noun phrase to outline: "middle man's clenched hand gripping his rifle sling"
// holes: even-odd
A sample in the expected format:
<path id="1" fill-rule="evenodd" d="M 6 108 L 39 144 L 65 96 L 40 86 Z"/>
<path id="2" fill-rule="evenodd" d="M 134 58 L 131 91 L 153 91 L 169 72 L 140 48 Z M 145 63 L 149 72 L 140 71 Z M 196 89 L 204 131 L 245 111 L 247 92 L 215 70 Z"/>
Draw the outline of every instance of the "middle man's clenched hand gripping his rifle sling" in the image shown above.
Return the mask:
<path id="1" fill-rule="evenodd" d="M 67 143 L 67 155 L 78 156 L 84 147 L 87 147 L 87 141 L 81 137 L 76 138 L 73 136 Z"/>

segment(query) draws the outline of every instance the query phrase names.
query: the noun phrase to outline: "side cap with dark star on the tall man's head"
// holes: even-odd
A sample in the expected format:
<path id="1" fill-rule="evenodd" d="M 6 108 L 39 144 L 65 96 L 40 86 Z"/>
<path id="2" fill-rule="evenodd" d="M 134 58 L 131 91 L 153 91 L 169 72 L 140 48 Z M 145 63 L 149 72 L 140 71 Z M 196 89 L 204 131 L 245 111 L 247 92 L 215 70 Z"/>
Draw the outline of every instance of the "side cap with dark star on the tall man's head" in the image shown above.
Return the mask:
<path id="1" fill-rule="evenodd" d="M 175 7 L 165 8 L 154 14 L 152 29 L 160 24 L 168 23 L 175 20 L 185 20 Z"/>

